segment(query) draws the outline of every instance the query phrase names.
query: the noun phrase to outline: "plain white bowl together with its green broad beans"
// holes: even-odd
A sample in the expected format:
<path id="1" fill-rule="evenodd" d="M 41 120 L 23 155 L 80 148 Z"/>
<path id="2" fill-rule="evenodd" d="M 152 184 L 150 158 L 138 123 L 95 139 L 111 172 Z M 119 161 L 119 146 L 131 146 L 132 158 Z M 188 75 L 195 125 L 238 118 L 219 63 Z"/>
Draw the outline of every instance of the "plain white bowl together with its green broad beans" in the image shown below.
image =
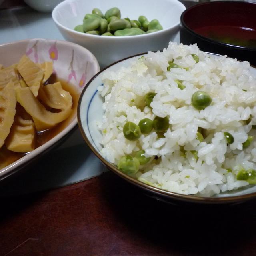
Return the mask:
<path id="1" fill-rule="evenodd" d="M 66 40 L 86 47 L 104 68 L 166 48 L 178 34 L 185 9 L 178 0 L 65 0 L 52 18 Z"/>

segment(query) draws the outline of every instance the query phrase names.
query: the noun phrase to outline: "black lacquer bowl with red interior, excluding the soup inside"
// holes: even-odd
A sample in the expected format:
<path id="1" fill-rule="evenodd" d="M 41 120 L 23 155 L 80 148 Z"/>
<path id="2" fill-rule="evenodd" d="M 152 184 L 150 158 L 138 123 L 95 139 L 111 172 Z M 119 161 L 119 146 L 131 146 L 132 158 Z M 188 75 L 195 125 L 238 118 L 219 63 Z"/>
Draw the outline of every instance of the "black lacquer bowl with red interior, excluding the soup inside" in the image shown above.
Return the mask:
<path id="1" fill-rule="evenodd" d="M 223 43 L 194 31 L 212 25 L 249 28 L 252 33 L 256 33 L 256 3 L 242 1 L 207 2 L 188 8 L 180 17 L 181 43 L 188 45 L 196 43 L 202 51 L 227 55 L 241 61 L 247 60 L 251 65 L 256 65 L 256 47 Z"/>

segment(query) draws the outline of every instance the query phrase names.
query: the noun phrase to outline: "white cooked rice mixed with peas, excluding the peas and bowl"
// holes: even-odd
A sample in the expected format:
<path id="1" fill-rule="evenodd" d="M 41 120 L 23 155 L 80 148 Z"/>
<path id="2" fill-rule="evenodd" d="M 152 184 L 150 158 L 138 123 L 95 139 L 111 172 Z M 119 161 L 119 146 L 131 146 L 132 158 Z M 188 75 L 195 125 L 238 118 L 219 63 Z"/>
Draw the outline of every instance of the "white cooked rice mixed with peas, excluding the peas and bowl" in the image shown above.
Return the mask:
<path id="1" fill-rule="evenodd" d="M 196 63 L 191 54 L 200 61 Z M 167 71 L 172 60 L 183 68 Z M 255 139 L 248 148 L 242 147 L 248 135 L 256 138 L 252 129 L 256 124 L 256 78 L 249 69 L 249 62 L 207 54 L 196 44 L 170 42 L 162 52 L 132 59 L 128 68 L 106 70 L 102 73 L 104 85 L 98 88 L 105 100 L 99 125 L 102 155 L 117 165 L 122 156 L 145 150 L 151 160 L 140 167 L 136 178 L 171 192 L 212 196 L 248 185 L 237 180 L 236 174 L 241 169 L 256 170 Z M 181 80 L 186 88 L 180 90 L 174 80 Z M 197 90 L 212 97 L 204 110 L 191 105 Z M 148 92 L 156 93 L 152 108 L 144 107 Z M 153 120 L 155 116 L 169 117 L 164 138 L 158 138 L 154 130 L 137 141 L 124 138 L 122 128 L 127 121 L 138 124 L 142 118 Z M 198 127 L 208 134 L 202 142 L 197 139 Z M 232 134 L 234 143 L 227 145 L 224 132 Z M 191 150 L 198 152 L 198 160 Z"/>

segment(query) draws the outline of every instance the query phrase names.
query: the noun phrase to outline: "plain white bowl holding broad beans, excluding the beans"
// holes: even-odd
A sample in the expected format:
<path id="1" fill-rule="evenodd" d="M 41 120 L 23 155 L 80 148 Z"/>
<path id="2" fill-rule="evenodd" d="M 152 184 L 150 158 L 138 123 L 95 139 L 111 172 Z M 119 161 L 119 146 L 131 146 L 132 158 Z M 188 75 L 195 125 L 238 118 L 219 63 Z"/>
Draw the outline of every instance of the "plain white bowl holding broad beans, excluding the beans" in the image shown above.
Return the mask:
<path id="1" fill-rule="evenodd" d="M 74 27 L 83 23 L 84 16 L 92 13 L 93 8 L 106 10 L 118 7 L 121 18 L 138 20 L 140 15 L 148 20 L 158 19 L 163 30 L 138 36 L 95 36 L 74 31 Z M 62 36 L 90 50 L 98 59 L 100 67 L 122 58 L 141 52 L 162 50 L 173 41 L 179 30 L 180 16 L 185 6 L 178 0 L 65 0 L 52 11 L 52 18 Z"/>

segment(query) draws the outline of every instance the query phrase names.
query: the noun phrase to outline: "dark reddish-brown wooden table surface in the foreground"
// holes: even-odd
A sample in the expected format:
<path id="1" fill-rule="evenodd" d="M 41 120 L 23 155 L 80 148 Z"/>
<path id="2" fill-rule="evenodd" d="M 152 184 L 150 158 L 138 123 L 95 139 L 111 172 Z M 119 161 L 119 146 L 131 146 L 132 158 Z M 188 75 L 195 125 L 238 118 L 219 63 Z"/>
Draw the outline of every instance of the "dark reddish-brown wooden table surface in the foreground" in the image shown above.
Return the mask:
<path id="1" fill-rule="evenodd" d="M 112 172 L 0 198 L 1 256 L 256 255 L 256 201 L 166 204 Z"/>

